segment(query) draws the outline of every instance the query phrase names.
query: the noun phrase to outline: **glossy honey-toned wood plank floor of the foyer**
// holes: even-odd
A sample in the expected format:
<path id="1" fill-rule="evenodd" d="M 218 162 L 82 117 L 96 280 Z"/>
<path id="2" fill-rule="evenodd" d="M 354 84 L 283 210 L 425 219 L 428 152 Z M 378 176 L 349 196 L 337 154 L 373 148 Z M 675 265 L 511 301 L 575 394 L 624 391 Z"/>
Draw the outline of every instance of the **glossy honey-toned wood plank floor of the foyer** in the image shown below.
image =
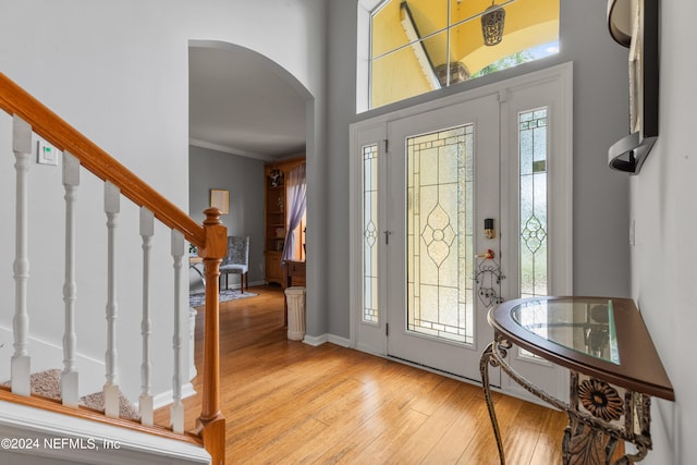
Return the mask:
<path id="1" fill-rule="evenodd" d="M 281 290 L 250 291 L 259 295 L 220 310 L 227 464 L 499 464 L 479 387 L 330 343 L 289 341 Z M 200 391 L 198 378 L 194 384 Z M 494 401 L 506 463 L 561 463 L 564 414 Z M 185 406 L 191 430 L 200 400 Z M 168 411 L 157 412 L 158 424 Z"/>

